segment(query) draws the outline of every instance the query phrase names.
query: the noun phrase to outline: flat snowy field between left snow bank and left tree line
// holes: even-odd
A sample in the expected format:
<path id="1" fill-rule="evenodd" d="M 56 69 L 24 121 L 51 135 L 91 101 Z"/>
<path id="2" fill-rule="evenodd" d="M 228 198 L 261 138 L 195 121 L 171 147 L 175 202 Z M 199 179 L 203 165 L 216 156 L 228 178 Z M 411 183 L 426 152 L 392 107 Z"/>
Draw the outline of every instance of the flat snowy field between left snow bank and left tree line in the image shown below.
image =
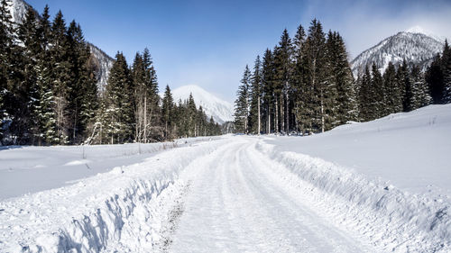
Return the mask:
<path id="1" fill-rule="evenodd" d="M 155 152 L 210 139 L 97 146 L 0 147 L 0 200 L 70 185 L 113 167 L 142 162 Z"/>

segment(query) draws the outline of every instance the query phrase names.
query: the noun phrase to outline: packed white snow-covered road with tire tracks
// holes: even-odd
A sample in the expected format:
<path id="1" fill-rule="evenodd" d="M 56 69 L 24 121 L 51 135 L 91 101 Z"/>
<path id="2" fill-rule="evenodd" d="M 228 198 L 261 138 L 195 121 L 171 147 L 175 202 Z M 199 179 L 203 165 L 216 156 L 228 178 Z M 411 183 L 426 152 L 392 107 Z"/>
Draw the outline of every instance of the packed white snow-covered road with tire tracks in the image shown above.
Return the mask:
<path id="1" fill-rule="evenodd" d="M 255 143 L 242 138 L 205 160 L 170 251 L 374 252 L 288 191 Z"/>

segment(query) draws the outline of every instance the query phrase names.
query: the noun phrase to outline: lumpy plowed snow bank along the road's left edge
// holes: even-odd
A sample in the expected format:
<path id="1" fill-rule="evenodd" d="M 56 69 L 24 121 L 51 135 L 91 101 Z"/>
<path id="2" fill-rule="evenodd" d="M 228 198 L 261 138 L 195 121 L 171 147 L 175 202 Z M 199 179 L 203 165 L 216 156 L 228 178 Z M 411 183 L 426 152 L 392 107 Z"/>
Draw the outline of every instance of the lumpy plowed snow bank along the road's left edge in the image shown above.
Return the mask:
<path id="1" fill-rule="evenodd" d="M 186 185 L 179 173 L 225 141 L 172 149 L 75 185 L 0 202 L 0 252 L 153 251 L 161 219 Z"/>

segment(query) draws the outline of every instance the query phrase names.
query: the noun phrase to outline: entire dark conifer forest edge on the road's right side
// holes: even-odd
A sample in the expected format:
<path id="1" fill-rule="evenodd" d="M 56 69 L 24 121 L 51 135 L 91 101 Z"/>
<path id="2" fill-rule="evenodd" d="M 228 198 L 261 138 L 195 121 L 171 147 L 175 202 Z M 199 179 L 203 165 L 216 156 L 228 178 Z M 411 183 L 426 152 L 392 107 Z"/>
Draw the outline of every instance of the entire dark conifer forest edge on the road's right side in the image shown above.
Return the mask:
<path id="1" fill-rule="evenodd" d="M 323 32 L 318 20 L 308 32 L 287 30 L 273 50 L 244 69 L 235 101 L 235 129 L 244 133 L 322 132 L 350 121 L 372 121 L 431 103 L 451 102 L 451 54 L 446 42 L 426 73 L 404 61 L 384 70 L 373 64 L 355 80 L 345 42 Z"/>

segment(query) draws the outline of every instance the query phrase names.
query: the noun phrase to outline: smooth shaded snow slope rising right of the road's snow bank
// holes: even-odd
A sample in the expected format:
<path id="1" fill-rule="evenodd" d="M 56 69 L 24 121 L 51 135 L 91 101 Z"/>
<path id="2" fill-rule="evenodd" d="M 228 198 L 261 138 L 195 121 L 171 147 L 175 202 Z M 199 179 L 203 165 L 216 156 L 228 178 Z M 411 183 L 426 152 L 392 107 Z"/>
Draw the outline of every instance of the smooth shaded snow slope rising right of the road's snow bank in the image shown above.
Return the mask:
<path id="1" fill-rule="evenodd" d="M 451 104 L 346 124 L 318 135 L 268 141 L 279 150 L 350 167 L 415 194 L 439 190 L 451 196 Z"/>

